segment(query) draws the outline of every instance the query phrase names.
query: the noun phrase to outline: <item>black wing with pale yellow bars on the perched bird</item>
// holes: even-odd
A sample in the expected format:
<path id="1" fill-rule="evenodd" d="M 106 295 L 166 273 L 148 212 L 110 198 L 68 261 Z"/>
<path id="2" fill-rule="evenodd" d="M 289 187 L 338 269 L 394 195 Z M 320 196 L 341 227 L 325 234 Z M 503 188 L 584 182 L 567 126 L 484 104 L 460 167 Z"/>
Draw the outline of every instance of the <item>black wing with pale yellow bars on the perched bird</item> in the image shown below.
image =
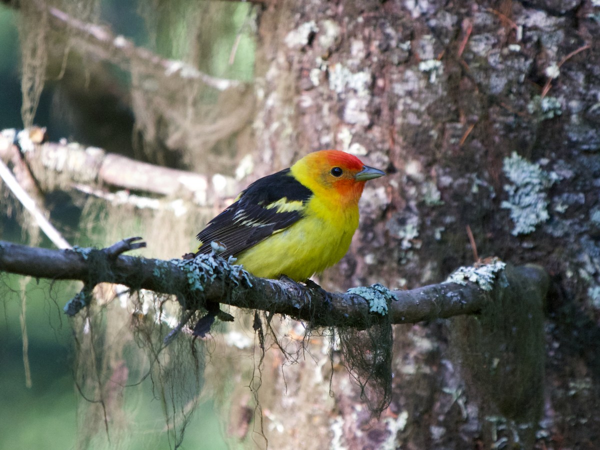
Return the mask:
<path id="1" fill-rule="evenodd" d="M 198 233 L 202 243 L 196 254 L 210 253 L 211 242 L 218 241 L 226 247 L 221 256 L 238 255 L 298 221 L 312 195 L 290 169 L 255 181 Z"/>

